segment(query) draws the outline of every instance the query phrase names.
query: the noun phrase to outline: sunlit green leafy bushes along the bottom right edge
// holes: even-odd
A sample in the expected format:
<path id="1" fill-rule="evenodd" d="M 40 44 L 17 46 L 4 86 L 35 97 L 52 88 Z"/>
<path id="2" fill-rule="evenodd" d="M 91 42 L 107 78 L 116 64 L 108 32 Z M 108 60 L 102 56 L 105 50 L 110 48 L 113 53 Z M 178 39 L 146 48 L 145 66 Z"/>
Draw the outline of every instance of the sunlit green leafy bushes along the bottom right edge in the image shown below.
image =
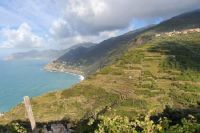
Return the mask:
<path id="1" fill-rule="evenodd" d="M 101 116 L 99 121 L 95 133 L 200 133 L 200 123 L 193 116 L 183 118 L 175 125 L 171 125 L 171 121 L 166 117 L 155 122 L 149 115 L 133 121 L 118 115 Z M 94 120 L 91 120 L 89 125 L 93 122 Z"/>

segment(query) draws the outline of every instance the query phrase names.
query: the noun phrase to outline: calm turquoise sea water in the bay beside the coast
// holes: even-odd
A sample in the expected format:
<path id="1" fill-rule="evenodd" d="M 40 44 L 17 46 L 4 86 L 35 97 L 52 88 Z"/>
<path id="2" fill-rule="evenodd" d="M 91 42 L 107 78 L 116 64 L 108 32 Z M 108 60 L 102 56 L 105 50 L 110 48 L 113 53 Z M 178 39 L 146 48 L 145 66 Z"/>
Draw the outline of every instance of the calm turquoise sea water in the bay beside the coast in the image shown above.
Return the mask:
<path id="1" fill-rule="evenodd" d="M 44 60 L 0 60 L 0 112 L 9 111 L 24 96 L 38 96 L 80 82 L 74 74 L 42 70 Z"/>

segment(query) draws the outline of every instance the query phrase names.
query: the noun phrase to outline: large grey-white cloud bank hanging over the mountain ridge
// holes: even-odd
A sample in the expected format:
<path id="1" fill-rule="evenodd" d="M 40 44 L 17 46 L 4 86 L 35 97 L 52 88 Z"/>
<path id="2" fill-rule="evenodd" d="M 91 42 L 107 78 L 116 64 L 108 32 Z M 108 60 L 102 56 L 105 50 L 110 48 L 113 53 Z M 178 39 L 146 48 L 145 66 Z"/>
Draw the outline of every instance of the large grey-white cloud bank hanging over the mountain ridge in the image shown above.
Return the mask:
<path id="1" fill-rule="evenodd" d="M 200 7 L 199 0 L 67 0 L 62 21 L 53 25 L 60 38 L 128 28 L 134 21 L 155 21 Z M 55 26 L 57 25 L 57 26 Z"/>

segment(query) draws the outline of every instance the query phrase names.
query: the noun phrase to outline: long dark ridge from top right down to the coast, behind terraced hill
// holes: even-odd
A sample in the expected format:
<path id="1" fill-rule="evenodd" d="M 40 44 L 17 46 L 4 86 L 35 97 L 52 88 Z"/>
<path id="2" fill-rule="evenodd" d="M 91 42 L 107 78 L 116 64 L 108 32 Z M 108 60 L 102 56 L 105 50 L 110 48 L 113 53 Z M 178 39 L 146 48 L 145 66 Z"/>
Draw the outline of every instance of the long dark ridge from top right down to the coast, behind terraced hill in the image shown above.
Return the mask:
<path id="1" fill-rule="evenodd" d="M 146 31 L 150 36 L 154 36 L 156 32 L 162 33 L 174 30 L 179 31 L 183 29 L 198 28 L 200 27 L 200 20 L 198 18 L 200 18 L 200 10 L 183 13 L 172 17 L 171 19 L 165 20 L 158 25 L 150 25 L 135 31 L 127 32 L 118 37 L 112 37 L 108 40 L 104 40 L 88 49 L 78 48 L 68 51 L 57 60 L 48 64 L 46 68 L 48 68 L 47 70 L 53 69 L 60 71 L 59 69 L 63 70 L 63 68 L 66 67 L 67 71 L 69 70 L 68 66 L 70 66 L 71 69 L 78 69 L 79 71 L 85 73 L 85 75 L 89 75 L 108 65 L 122 55 L 124 51 L 129 48 L 128 42 L 132 41 L 132 39 L 136 39 L 136 43 L 142 43 L 138 41 L 142 39 L 137 38 L 137 35 Z M 65 64 L 65 67 L 63 67 L 63 64 Z"/>

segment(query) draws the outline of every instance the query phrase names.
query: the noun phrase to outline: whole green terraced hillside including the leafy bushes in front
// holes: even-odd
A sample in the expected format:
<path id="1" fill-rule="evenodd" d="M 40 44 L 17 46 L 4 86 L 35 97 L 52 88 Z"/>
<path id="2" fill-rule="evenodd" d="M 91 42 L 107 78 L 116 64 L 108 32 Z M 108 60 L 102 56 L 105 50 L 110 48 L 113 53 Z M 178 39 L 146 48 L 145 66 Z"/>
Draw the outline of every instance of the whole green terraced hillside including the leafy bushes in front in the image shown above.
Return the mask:
<path id="1" fill-rule="evenodd" d="M 34 97 L 38 128 L 70 123 L 76 132 L 199 132 L 200 33 L 156 34 L 134 36 L 121 56 L 70 89 Z M 19 104 L 0 118 L 0 129 L 29 129 L 24 114 Z"/>

